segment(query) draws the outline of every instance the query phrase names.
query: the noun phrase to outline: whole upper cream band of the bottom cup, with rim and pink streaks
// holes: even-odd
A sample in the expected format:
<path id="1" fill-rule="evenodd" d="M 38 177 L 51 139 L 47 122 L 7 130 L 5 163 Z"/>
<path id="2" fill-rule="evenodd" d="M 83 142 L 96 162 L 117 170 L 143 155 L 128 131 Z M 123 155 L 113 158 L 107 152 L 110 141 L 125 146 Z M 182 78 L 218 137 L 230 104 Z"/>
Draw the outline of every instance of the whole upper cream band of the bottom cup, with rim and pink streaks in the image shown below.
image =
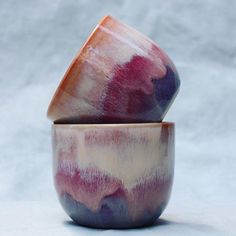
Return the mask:
<path id="1" fill-rule="evenodd" d="M 126 189 L 173 174 L 174 123 L 59 124 L 53 125 L 53 137 L 55 172 L 95 168 Z"/>

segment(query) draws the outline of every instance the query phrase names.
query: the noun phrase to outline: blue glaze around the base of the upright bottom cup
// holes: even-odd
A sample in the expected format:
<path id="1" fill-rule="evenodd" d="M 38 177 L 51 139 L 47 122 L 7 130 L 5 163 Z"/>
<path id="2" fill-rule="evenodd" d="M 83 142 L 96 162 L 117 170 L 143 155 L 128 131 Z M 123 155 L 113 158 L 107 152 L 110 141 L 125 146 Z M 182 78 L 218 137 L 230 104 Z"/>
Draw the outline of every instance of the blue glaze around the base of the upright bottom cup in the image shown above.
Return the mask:
<path id="1" fill-rule="evenodd" d="M 166 206 L 166 203 L 163 203 L 155 214 L 146 211 L 141 219 L 132 221 L 125 199 L 114 196 L 114 194 L 102 200 L 98 212 L 90 211 L 84 204 L 74 200 L 68 193 L 61 195 L 60 202 L 67 214 L 76 223 L 95 228 L 133 228 L 150 225 L 161 215 Z"/>

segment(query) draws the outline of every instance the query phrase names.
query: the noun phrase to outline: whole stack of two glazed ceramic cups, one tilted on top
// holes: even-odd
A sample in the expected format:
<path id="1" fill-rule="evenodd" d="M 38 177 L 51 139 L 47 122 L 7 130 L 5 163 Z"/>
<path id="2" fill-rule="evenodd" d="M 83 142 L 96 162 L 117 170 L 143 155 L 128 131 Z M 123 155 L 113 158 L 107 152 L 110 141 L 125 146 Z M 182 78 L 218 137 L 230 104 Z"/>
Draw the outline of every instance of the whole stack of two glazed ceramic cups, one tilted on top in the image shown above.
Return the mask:
<path id="1" fill-rule="evenodd" d="M 152 224 L 169 200 L 174 123 L 162 122 L 180 80 L 153 41 L 104 17 L 48 108 L 55 187 L 78 224 Z"/>

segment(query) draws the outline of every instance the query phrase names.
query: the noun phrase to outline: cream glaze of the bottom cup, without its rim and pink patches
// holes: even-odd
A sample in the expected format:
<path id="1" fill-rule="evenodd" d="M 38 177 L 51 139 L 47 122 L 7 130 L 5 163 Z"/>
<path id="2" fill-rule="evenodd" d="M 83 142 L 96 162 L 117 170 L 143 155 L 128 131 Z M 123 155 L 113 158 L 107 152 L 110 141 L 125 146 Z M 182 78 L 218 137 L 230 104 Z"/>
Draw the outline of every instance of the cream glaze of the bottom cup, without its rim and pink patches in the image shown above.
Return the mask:
<path id="1" fill-rule="evenodd" d="M 121 142 L 120 145 L 85 143 L 85 136 L 91 130 L 102 134 L 109 129 L 127 132 L 134 140 Z M 169 131 L 171 132 L 171 128 Z M 54 150 L 55 171 L 58 168 L 58 153 L 63 152 L 65 156 L 60 160 L 60 168 L 68 174 L 73 172 L 75 163 L 81 169 L 96 167 L 104 174 L 120 179 L 128 190 L 143 180 L 151 179 L 156 173 L 163 179 L 173 174 L 174 134 L 169 136 L 168 142 L 161 142 L 161 127 L 103 129 L 95 126 L 95 128 L 78 129 L 75 126 L 56 125 L 54 135 L 58 139 Z M 71 148 L 72 142 L 74 142 L 73 148 Z"/>

